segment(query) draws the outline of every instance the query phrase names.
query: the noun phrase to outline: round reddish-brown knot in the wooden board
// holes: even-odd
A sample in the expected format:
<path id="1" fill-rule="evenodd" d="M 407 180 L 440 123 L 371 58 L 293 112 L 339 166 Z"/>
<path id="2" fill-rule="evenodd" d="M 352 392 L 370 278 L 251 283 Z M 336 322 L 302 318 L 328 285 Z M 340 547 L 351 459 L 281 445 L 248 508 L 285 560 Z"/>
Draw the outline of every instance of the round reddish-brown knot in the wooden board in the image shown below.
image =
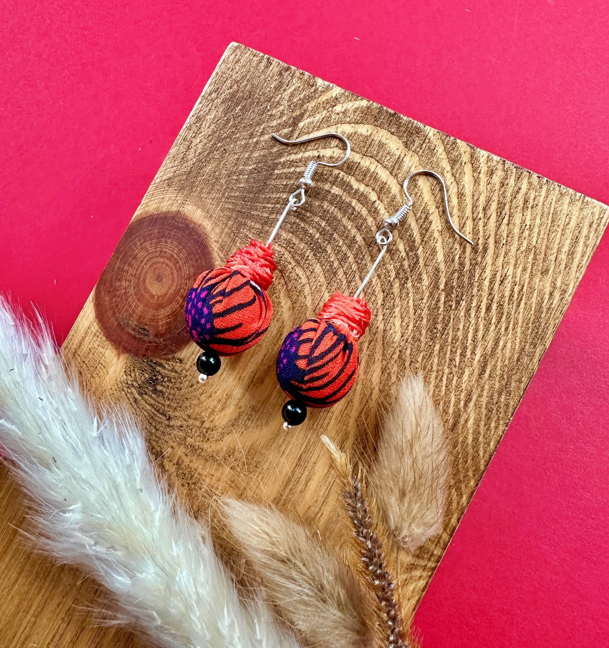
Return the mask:
<path id="1" fill-rule="evenodd" d="M 138 358 L 172 356 L 190 341 L 184 321 L 188 288 L 213 267 L 205 234 L 183 214 L 131 223 L 95 288 L 95 316 L 104 335 Z"/>

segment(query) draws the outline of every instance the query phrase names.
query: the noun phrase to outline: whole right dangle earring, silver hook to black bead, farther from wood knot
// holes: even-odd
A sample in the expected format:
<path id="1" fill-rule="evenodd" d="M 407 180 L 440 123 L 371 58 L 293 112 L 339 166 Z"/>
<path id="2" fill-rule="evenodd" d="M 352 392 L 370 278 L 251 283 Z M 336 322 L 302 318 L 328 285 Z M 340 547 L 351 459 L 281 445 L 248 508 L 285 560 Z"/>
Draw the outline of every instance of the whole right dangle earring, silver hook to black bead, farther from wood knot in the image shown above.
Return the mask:
<path id="1" fill-rule="evenodd" d="M 404 204 L 393 216 L 386 218 L 376 234 L 379 255 L 353 297 L 335 292 L 318 316 L 291 330 L 283 340 L 277 356 L 277 380 L 292 399 L 283 405 L 283 428 L 300 425 L 307 417 L 307 406 L 329 407 L 344 397 L 353 386 L 359 369 L 357 341 L 370 324 L 370 308 L 359 295 L 370 280 L 393 240 L 392 230 L 406 218 L 412 208 L 408 181 L 413 176 L 428 174 L 437 178 L 444 191 L 444 206 L 450 227 L 473 245 L 454 226 L 448 210 L 448 196 L 443 179 L 434 171 L 414 171 L 404 180 Z"/>

